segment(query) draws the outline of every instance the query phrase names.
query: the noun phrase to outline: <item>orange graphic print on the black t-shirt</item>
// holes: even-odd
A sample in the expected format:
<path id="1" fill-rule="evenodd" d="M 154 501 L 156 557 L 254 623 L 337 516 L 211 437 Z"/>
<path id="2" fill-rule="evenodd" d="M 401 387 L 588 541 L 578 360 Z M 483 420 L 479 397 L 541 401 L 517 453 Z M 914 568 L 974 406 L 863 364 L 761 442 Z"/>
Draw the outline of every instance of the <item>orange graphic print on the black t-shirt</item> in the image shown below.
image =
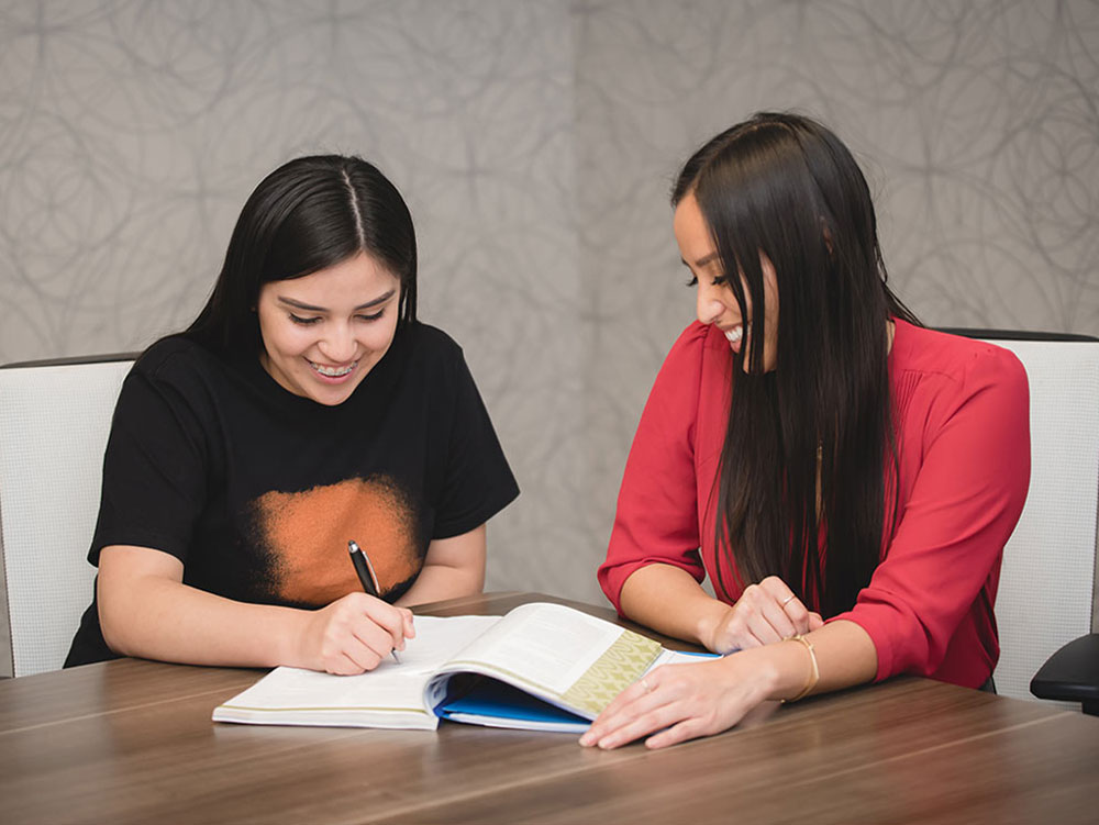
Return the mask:
<path id="1" fill-rule="evenodd" d="M 413 510 L 386 477 L 354 478 L 254 502 L 256 538 L 269 556 L 271 595 L 321 606 L 363 589 L 347 554 L 354 539 L 370 556 L 382 595 L 423 566 Z"/>

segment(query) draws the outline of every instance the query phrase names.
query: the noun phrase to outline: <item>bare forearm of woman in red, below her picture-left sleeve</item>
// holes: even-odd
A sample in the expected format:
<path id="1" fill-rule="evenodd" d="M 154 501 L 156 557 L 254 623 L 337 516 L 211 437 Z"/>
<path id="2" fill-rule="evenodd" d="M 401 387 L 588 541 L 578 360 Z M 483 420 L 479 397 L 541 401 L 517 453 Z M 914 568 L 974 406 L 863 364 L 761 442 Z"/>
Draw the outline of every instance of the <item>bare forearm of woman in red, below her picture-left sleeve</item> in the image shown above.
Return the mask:
<path id="1" fill-rule="evenodd" d="M 686 570 L 671 565 L 639 568 L 622 586 L 622 612 L 654 631 L 712 649 L 713 632 L 730 610 Z"/>

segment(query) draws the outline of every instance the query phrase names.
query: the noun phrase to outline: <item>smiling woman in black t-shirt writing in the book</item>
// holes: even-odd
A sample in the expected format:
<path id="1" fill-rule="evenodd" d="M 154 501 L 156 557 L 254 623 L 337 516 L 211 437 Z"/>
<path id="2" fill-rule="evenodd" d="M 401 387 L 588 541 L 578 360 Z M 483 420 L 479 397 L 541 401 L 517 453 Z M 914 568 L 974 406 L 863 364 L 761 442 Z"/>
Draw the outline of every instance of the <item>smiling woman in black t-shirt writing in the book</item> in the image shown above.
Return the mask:
<path id="1" fill-rule="evenodd" d="M 66 666 L 355 673 L 414 635 L 407 605 L 480 592 L 485 523 L 519 489 L 415 282 L 408 208 L 370 164 L 303 157 L 259 183 L 198 319 L 123 384 Z"/>

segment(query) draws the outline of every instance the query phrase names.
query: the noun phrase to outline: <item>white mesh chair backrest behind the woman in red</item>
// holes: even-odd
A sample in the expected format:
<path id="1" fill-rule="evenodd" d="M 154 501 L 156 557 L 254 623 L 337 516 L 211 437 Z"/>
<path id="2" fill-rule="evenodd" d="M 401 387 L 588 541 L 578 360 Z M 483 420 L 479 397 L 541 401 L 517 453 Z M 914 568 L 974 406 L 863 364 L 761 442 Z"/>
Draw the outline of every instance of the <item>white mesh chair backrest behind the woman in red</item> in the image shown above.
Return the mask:
<path id="1" fill-rule="evenodd" d="M 1033 700 L 1031 677 L 1096 623 L 1099 339 L 952 332 L 1010 349 L 1030 383 L 1030 492 L 1003 548 L 995 679 L 1002 695 Z"/>

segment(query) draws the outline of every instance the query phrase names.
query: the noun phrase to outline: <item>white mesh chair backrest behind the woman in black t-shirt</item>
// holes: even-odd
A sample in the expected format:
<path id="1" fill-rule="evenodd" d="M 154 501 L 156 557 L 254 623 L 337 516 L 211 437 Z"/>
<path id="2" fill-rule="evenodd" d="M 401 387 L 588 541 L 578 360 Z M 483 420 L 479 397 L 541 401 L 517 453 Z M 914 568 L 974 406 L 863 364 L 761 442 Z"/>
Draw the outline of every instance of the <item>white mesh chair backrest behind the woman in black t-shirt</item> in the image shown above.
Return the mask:
<path id="1" fill-rule="evenodd" d="M 103 450 L 133 358 L 0 368 L 2 676 L 60 668 L 91 600 Z"/>

